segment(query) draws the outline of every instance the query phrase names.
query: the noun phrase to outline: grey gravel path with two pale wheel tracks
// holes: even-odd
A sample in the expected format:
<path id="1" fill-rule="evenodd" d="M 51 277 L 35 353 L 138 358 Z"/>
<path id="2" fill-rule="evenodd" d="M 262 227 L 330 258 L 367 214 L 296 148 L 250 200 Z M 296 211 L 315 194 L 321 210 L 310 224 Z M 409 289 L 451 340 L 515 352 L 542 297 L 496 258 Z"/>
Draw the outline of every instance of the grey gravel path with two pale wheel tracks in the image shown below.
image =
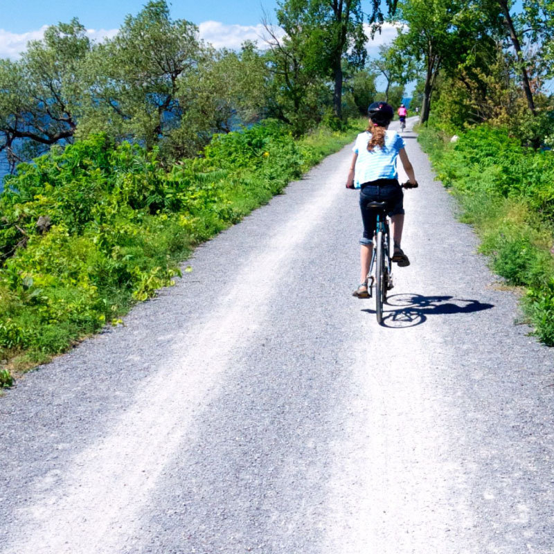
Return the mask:
<path id="1" fill-rule="evenodd" d="M 384 326 L 346 148 L 0 399 L 1 554 L 554 552 L 554 350 L 405 138 Z"/>

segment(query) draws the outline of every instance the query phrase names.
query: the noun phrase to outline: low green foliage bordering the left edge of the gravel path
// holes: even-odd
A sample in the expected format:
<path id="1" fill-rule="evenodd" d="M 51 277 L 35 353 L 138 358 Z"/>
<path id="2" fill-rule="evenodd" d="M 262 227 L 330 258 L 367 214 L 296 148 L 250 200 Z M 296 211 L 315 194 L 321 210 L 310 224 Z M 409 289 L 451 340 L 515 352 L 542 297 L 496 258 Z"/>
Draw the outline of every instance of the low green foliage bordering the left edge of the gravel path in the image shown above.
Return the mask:
<path id="1" fill-rule="evenodd" d="M 215 135 L 202 158 L 170 168 L 155 149 L 97 135 L 20 164 L 0 195 L 0 359 L 44 361 L 172 285 L 195 244 L 353 134 L 299 144 L 267 121 Z M 37 226 L 45 216 L 49 229 Z"/>

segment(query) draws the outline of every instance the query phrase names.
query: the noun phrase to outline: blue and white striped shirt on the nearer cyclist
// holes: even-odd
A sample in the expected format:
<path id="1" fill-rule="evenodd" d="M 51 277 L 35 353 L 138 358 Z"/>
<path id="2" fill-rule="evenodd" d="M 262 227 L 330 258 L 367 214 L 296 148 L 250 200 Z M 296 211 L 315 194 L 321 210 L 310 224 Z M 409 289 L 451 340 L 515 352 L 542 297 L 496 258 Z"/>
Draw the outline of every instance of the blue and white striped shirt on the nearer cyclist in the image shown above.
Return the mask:
<path id="1" fill-rule="evenodd" d="M 358 154 L 354 169 L 354 186 L 377 179 L 398 179 L 396 162 L 398 152 L 406 146 L 404 139 L 396 131 L 387 131 L 384 148 L 375 146 L 373 151 L 368 150 L 371 134 L 366 131 L 356 137 L 352 152 Z"/>

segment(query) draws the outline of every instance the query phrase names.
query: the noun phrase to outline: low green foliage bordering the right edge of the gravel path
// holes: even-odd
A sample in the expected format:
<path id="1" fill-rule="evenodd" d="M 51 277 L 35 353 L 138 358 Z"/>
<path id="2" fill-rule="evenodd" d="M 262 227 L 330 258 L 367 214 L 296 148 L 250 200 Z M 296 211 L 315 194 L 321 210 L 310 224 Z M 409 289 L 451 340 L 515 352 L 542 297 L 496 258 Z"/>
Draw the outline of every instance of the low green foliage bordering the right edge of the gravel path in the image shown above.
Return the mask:
<path id="1" fill-rule="evenodd" d="M 522 147 L 504 129 L 479 125 L 454 144 L 436 128 L 420 132 L 438 178 L 476 227 L 492 269 L 526 287 L 524 309 L 537 336 L 554 345 L 554 153 Z"/>

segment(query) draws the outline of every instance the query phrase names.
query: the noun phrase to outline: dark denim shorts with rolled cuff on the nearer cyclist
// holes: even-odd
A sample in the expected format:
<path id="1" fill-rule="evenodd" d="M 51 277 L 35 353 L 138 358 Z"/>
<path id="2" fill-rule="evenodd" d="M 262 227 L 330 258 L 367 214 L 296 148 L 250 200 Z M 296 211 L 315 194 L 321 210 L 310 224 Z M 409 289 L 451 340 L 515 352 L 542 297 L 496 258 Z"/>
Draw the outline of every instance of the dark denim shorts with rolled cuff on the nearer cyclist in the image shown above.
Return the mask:
<path id="1" fill-rule="evenodd" d="M 372 244 L 375 227 L 377 226 L 377 212 L 366 208 L 368 202 L 386 202 L 388 215 L 404 213 L 404 191 L 397 179 L 379 179 L 364 183 L 359 191 L 359 207 L 361 220 L 364 222 L 364 235 L 360 244 Z"/>

